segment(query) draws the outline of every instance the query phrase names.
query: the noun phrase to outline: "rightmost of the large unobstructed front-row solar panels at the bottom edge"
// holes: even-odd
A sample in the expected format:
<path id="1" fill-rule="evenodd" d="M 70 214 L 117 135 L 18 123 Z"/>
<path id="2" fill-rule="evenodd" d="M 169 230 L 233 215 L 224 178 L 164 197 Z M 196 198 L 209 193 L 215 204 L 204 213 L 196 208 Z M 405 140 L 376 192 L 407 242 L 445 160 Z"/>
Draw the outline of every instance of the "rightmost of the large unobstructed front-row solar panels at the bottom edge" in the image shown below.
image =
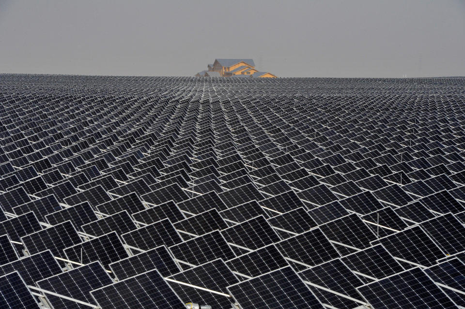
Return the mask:
<path id="1" fill-rule="evenodd" d="M 457 308 L 418 267 L 368 283 L 357 290 L 373 308 Z"/>

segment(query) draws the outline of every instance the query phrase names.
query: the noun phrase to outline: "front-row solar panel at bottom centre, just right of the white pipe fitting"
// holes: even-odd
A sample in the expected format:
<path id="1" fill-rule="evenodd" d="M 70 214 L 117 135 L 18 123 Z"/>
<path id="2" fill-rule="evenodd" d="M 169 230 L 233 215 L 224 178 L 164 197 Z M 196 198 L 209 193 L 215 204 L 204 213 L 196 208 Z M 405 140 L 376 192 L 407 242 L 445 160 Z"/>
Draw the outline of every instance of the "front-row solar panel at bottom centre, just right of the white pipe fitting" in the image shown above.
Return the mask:
<path id="1" fill-rule="evenodd" d="M 243 309 L 324 308 L 290 266 L 231 285 L 228 291 Z"/>

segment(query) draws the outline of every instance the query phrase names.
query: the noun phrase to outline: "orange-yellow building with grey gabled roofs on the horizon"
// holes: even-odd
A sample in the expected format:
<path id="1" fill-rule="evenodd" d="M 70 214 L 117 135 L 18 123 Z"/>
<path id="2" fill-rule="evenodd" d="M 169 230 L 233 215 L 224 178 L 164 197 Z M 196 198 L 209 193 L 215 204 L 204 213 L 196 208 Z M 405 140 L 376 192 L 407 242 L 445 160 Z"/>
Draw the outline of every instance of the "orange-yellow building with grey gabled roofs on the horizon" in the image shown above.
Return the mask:
<path id="1" fill-rule="evenodd" d="M 255 68 L 253 59 L 215 59 L 207 65 L 207 70 L 195 74 L 197 77 L 268 77 L 278 76 L 261 72 Z"/>

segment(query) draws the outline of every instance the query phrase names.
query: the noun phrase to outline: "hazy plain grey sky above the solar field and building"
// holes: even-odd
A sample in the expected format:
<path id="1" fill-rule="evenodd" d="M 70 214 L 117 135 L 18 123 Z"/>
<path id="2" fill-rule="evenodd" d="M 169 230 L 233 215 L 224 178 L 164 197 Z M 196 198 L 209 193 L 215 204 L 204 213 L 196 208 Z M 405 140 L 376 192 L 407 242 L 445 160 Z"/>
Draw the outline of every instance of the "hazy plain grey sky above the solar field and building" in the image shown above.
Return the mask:
<path id="1" fill-rule="evenodd" d="M 0 0 L 0 73 L 465 75 L 464 0 Z"/>

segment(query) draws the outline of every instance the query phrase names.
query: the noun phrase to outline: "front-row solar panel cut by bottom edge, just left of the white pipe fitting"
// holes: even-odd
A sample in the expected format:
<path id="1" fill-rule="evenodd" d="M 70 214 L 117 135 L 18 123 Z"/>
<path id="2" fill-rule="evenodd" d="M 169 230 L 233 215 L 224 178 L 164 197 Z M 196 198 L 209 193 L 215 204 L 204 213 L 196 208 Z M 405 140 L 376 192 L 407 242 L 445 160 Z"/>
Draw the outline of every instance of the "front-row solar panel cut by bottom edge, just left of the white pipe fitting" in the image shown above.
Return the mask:
<path id="1" fill-rule="evenodd" d="M 185 307 L 156 269 L 95 289 L 91 295 L 103 309 L 127 309 L 135 304 L 140 309 Z"/>

